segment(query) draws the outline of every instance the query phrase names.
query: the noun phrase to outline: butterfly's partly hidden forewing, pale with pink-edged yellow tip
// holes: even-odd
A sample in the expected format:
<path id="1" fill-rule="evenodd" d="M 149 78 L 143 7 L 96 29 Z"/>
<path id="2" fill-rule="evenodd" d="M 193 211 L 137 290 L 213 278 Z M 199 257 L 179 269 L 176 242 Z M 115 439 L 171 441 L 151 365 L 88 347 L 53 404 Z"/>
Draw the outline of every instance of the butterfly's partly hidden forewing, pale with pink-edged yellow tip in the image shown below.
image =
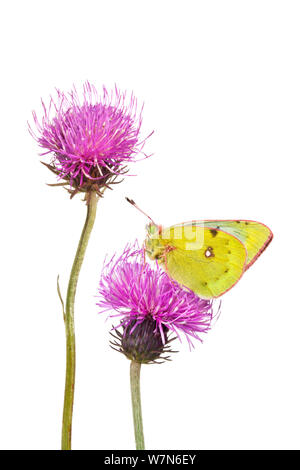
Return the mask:
<path id="1" fill-rule="evenodd" d="M 257 260 L 273 238 L 269 227 L 252 220 L 207 220 L 203 222 L 203 226 L 212 230 L 219 228 L 238 238 L 247 249 L 246 269 Z"/>

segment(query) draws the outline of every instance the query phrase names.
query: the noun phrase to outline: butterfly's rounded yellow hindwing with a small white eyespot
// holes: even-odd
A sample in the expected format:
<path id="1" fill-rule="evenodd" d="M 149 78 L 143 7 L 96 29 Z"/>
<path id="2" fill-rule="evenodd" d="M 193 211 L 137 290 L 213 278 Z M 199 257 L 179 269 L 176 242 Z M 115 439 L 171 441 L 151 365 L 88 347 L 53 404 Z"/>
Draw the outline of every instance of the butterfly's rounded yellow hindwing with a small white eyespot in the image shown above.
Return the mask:
<path id="1" fill-rule="evenodd" d="M 180 233 L 181 227 L 181 233 Z M 215 234 L 216 232 L 216 234 Z M 247 250 L 235 236 L 193 225 L 164 229 L 162 264 L 170 277 L 202 298 L 219 297 L 242 276 Z"/>

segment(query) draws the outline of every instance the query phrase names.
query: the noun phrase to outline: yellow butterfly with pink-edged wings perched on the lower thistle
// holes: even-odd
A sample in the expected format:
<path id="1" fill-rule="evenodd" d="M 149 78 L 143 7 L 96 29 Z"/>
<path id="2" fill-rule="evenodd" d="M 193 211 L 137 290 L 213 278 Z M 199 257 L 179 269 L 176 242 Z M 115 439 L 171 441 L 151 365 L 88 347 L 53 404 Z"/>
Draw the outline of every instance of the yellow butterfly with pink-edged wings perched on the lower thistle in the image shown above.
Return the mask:
<path id="1" fill-rule="evenodd" d="M 195 220 L 168 228 L 150 221 L 145 240 L 148 257 L 204 299 L 231 289 L 273 238 L 266 225 L 252 220 Z"/>

